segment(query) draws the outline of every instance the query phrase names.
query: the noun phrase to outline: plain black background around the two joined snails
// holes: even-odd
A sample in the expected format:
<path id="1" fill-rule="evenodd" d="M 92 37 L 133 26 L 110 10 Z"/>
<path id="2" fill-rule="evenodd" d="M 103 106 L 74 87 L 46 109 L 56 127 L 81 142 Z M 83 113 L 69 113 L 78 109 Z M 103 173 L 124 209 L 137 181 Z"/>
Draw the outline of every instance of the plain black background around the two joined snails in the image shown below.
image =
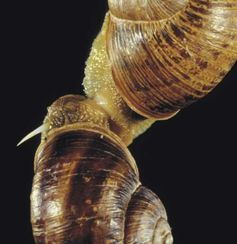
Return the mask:
<path id="1" fill-rule="evenodd" d="M 107 9 L 105 0 L 32 2 L 8 6 L 3 21 L 6 243 L 33 243 L 29 196 L 39 137 L 15 145 L 41 124 L 56 98 L 82 92 L 84 63 Z M 130 146 L 143 184 L 167 208 L 176 244 L 235 240 L 236 76 L 237 65 L 208 97 L 157 122 Z"/>

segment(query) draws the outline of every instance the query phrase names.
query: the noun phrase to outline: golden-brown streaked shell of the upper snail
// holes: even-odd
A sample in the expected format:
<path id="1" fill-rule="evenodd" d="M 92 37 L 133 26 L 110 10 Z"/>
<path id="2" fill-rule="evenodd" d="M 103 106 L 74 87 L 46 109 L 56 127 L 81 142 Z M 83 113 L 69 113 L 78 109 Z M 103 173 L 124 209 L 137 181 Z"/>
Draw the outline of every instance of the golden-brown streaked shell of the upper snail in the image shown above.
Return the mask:
<path id="1" fill-rule="evenodd" d="M 237 59 L 236 1 L 110 0 L 109 6 L 113 78 L 145 117 L 168 117 L 204 97 Z"/>

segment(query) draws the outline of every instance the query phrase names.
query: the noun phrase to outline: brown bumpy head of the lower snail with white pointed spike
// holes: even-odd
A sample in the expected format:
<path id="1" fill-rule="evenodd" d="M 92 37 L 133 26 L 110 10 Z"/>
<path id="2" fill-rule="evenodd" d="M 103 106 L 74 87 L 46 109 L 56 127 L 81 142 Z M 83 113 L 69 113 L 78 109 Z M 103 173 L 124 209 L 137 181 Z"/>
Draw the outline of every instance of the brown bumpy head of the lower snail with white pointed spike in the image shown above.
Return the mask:
<path id="1" fill-rule="evenodd" d="M 42 142 L 47 140 L 49 134 L 65 126 L 77 126 L 89 123 L 91 125 L 109 127 L 109 116 L 91 99 L 80 95 L 66 95 L 58 98 L 48 107 L 48 113 L 43 125 L 25 136 L 17 146 L 41 133 Z"/>

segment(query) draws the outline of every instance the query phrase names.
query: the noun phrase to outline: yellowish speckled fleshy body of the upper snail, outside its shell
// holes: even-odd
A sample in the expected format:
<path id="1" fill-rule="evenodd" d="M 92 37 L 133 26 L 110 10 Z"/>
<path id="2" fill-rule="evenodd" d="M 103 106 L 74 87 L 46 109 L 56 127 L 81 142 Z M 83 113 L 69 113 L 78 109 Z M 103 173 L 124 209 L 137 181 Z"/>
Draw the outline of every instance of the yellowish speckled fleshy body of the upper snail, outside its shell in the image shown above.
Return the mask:
<path id="1" fill-rule="evenodd" d="M 86 62 L 84 91 L 109 115 L 110 128 L 128 145 L 134 138 L 146 131 L 155 119 L 144 118 L 135 113 L 118 93 L 111 64 L 106 51 L 106 32 L 109 14 L 106 15 L 102 30 L 95 39 Z"/>

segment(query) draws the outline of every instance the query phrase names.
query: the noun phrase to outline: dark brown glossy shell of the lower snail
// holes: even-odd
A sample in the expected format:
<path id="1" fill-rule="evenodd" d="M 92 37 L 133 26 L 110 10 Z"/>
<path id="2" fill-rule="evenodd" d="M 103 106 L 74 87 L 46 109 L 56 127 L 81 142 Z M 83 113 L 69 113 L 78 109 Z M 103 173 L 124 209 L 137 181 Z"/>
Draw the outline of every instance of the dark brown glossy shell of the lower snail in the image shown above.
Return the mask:
<path id="1" fill-rule="evenodd" d="M 55 129 L 39 147 L 31 202 L 36 243 L 173 243 L 126 146 L 88 123 Z"/>

